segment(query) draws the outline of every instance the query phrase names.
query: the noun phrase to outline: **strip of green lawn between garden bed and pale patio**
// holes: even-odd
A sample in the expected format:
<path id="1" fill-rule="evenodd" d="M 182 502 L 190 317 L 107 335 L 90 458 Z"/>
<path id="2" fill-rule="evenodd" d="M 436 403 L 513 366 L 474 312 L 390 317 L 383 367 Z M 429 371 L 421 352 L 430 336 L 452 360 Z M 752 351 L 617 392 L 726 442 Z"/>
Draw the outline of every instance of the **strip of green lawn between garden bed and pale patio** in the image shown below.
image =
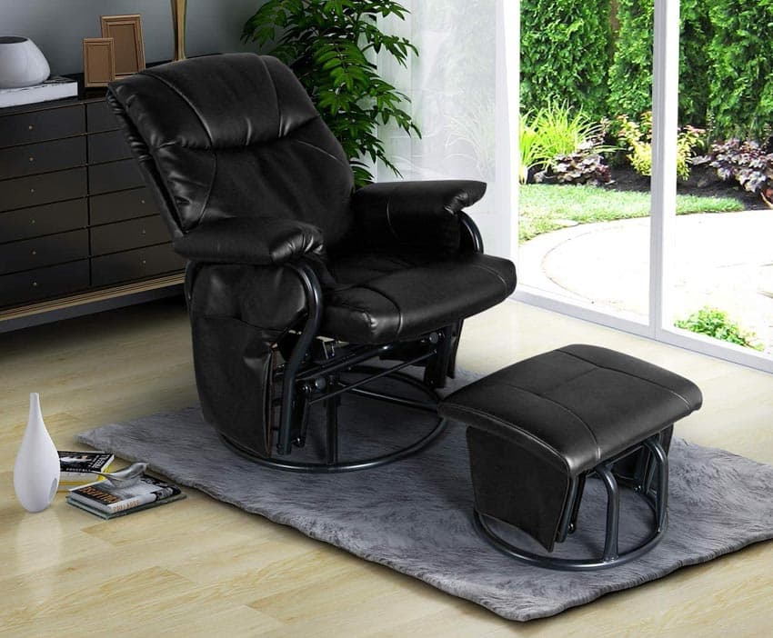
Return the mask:
<path id="1" fill-rule="evenodd" d="M 649 214 L 648 193 L 607 191 L 597 186 L 525 184 L 520 186 L 519 201 L 518 240 L 521 243 L 567 225 L 611 222 Z M 732 197 L 677 195 L 677 214 L 742 210 L 744 205 Z"/>

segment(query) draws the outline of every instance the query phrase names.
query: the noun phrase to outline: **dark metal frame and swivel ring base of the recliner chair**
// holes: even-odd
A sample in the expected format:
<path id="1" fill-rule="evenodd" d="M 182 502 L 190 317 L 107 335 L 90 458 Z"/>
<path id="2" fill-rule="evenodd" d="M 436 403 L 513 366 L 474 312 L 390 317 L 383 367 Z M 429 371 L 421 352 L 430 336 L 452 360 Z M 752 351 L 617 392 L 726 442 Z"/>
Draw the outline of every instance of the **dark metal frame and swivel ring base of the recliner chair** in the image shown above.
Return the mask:
<path id="1" fill-rule="evenodd" d="M 467 244 L 475 252 L 482 253 L 483 240 L 477 225 L 465 212 L 459 212 L 457 215 L 467 234 Z M 356 345 L 326 341 L 319 335 L 324 302 L 322 285 L 316 272 L 303 260 L 288 266 L 295 271 L 303 284 L 306 294 L 306 317 L 303 326 L 294 334 L 296 343 L 285 363 L 276 369 L 276 377 L 281 381 L 282 387 L 281 397 L 276 400 L 280 407 L 278 425 L 274 427 L 272 424 L 276 432 L 276 455 L 258 455 L 221 434 L 223 441 L 238 454 L 258 464 L 304 473 L 371 469 L 417 454 L 433 444 L 447 424 L 445 419 L 437 416 L 437 404 L 440 400 L 437 388 L 445 386 L 447 376 L 453 376 L 463 322 L 458 321 L 456 324 L 424 334 L 412 342 Z M 190 278 L 192 277 L 193 274 Z M 189 277 L 186 277 L 186 280 L 188 279 Z M 400 363 L 388 368 L 363 365 L 371 360 L 385 358 L 399 359 Z M 426 366 L 423 381 L 401 372 L 410 365 L 420 364 Z M 341 377 L 341 374 L 347 372 L 366 374 L 366 377 L 347 383 Z M 427 396 L 427 401 L 417 401 L 363 387 L 383 377 L 417 388 Z M 337 408 L 341 395 L 345 393 L 430 413 L 437 420 L 437 424 L 427 434 L 397 451 L 367 459 L 341 461 L 338 458 Z M 292 453 L 293 447 L 303 447 L 306 444 L 308 410 L 312 405 L 320 403 L 326 407 L 326 459 L 317 463 L 289 459 L 288 455 Z"/>

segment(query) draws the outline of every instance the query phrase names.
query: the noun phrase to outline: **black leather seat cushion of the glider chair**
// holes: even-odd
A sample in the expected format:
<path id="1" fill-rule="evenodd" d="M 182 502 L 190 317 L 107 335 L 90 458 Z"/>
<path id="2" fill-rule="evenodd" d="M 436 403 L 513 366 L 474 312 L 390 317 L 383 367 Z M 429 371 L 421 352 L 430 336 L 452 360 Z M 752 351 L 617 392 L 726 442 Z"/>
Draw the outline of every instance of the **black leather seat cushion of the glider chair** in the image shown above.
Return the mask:
<path id="1" fill-rule="evenodd" d="M 512 262 L 486 254 L 452 258 L 401 254 L 331 259 L 322 334 L 356 344 L 388 344 L 455 324 L 507 298 Z"/>

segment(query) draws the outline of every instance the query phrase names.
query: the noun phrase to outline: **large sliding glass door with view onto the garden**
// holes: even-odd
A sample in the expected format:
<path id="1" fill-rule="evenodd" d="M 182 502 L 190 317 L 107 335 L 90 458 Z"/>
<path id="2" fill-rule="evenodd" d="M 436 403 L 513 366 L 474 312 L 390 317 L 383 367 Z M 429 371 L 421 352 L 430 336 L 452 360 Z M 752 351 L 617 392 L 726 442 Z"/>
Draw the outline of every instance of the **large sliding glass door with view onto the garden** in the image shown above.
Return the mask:
<path id="1" fill-rule="evenodd" d="M 730 174 L 773 125 L 770 15 L 734 2 L 521 0 L 517 297 L 773 371 L 767 183 L 748 210 Z"/>

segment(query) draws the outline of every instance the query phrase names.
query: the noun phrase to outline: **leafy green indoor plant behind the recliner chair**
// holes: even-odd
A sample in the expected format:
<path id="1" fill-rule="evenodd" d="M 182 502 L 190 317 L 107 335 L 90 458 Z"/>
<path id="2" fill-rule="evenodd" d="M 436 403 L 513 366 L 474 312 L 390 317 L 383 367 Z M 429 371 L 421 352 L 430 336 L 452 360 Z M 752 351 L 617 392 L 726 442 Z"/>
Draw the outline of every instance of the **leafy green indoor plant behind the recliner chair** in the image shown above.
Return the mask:
<path id="1" fill-rule="evenodd" d="M 406 65 L 417 49 L 407 38 L 385 34 L 379 18 L 405 19 L 392 0 L 268 0 L 249 20 L 243 39 L 274 45 L 271 55 L 289 65 L 341 142 L 357 185 L 373 180 L 368 165 L 382 162 L 399 174 L 378 139 L 377 126 L 393 123 L 419 135 L 405 110 L 407 95 L 378 74 L 376 55 Z"/>

